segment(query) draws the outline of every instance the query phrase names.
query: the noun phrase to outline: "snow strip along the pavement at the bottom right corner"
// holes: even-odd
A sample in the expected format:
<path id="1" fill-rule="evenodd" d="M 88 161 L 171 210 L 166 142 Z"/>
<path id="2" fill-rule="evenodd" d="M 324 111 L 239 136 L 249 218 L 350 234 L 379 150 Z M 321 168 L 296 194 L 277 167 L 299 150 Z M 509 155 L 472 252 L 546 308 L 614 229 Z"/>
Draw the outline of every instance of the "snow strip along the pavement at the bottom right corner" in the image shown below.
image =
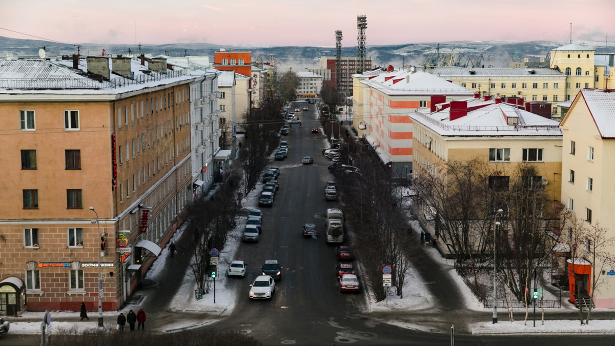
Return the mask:
<path id="1" fill-rule="evenodd" d="M 544 326 L 541 326 L 541 320 L 537 316 L 536 327 L 532 320 L 528 320 L 527 325 L 523 325 L 523 321 L 499 321 L 497 324 L 491 322 L 474 323 L 470 326 L 472 334 L 577 334 L 577 333 L 595 333 L 595 334 L 615 334 L 615 320 L 595 320 L 589 321 L 589 324 L 581 326 L 578 320 L 560 320 L 560 321 L 544 321 Z"/>

